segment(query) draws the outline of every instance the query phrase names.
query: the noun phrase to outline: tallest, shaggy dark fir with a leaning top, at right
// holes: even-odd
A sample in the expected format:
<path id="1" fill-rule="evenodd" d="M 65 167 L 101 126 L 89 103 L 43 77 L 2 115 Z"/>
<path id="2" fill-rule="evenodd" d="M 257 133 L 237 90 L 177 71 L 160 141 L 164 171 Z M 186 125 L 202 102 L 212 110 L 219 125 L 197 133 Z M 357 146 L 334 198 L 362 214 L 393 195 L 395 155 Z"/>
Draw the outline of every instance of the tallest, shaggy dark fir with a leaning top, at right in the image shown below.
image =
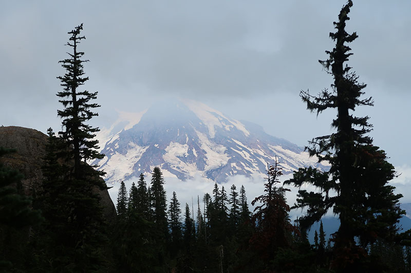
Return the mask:
<path id="1" fill-rule="evenodd" d="M 394 187 L 388 181 L 394 177 L 394 166 L 386 161 L 384 151 L 372 145 L 366 134 L 371 130 L 368 117 L 352 114 L 358 106 L 372 106 L 371 98 L 362 99 L 366 85 L 358 82 L 358 76 L 350 72 L 345 62 L 352 55 L 347 44 L 356 39 L 357 33 L 345 31 L 347 16 L 352 1 L 341 9 L 339 21 L 334 22 L 336 31 L 330 33 L 335 41 L 332 51 L 326 51 L 329 59 L 320 61 L 325 70 L 333 76 L 332 91 L 325 89 L 318 96 L 301 92 L 307 109 L 321 113 L 326 109 L 337 110 L 332 127 L 337 132 L 314 138 L 307 147 L 311 156 L 331 164 L 329 171 L 319 171 L 312 167 L 300 169 L 288 181 L 295 186 L 309 183 L 319 192 L 298 192 L 295 207 L 308 207 L 307 214 L 300 218 L 302 228 L 308 228 L 333 208 L 340 218 L 340 228 L 334 237 L 333 266 L 339 270 L 360 268 L 367 256 L 365 251 L 377 238 L 395 236 L 395 226 L 403 212 L 399 207 L 402 195 L 393 193 Z M 337 193 L 336 196 L 329 192 Z M 360 238 L 360 244 L 354 241 Z"/>

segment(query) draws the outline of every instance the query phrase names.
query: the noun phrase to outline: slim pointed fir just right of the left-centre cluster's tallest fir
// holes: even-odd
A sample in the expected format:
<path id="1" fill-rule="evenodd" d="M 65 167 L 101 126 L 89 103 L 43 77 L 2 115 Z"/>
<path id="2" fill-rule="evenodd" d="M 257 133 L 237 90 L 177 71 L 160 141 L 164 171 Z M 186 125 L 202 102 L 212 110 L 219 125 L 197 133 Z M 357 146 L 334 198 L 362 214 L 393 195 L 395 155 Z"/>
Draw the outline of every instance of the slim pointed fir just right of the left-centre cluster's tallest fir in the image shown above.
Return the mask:
<path id="1" fill-rule="evenodd" d="M 182 243 L 181 208 L 177 200 L 176 192 L 173 192 L 169 206 L 169 228 L 170 228 L 170 252 L 172 257 L 178 255 Z"/>

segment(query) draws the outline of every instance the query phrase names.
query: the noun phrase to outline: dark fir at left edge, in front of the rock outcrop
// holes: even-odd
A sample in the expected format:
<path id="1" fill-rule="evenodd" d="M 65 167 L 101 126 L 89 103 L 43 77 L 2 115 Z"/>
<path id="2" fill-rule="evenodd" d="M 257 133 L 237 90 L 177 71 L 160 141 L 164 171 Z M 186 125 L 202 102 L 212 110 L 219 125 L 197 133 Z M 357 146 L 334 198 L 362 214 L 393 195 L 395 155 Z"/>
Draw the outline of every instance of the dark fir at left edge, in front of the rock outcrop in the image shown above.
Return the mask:
<path id="1" fill-rule="evenodd" d="M 0 157 L 15 150 L 0 147 Z M 27 253 L 29 227 L 42 222 L 40 211 L 31 209 L 31 199 L 18 194 L 16 186 L 23 175 L 0 163 L 0 271 L 25 270 L 31 260 Z"/>

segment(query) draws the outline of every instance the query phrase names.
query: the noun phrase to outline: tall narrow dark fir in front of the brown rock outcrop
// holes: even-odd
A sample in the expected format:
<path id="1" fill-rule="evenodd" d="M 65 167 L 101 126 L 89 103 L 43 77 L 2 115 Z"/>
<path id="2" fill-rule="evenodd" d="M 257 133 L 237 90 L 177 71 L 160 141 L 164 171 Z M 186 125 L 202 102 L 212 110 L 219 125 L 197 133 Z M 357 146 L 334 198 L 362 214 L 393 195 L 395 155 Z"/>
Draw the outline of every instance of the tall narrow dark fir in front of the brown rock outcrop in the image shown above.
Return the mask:
<path id="1" fill-rule="evenodd" d="M 58 230 L 59 240 L 54 241 L 54 256 L 52 270 L 91 271 L 99 270 L 104 262 L 104 245 L 106 244 L 105 221 L 96 187 L 106 189 L 104 180 L 100 178 L 104 172 L 96 171 L 95 165 L 89 166 L 87 161 L 101 159 L 98 153 L 98 140 L 95 133 L 98 128 L 93 128 L 86 122 L 98 114 L 92 112 L 99 107 L 91 101 L 97 98 L 97 92 L 80 91 L 88 77 L 84 76 L 84 52 L 78 50 L 78 45 L 84 36 L 80 35 L 83 25 L 68 32 L 69 42 L 66 44 L 73 51 L 68 53 L 69 58 L 61 60 L 62 67 L 66 69 L 64 76 L 59 76 L 63 90 L 57 93 L 63 110 L 58 110 L 62 118 L 62 131 L 59 135 L 58 156 L 61 158 L 64 173 L 61 177 L 65 190 L 59 192 L 53 188 L 53 183 L 48 183 L 45 192 L 58 194 L 60 203 L 54 204 L 61 208 L 61 219 L 47 219 L 52 221 L 49 226 L 60 225 Z M 61 145 L 60 145 L 61 144 Z M 59 178 L 60 179 L 60 178 Z M 59 183 L 55 184 L 60 186 Z M 51 206 L 48 204 L 46 206 Z M 48 230 L 49 233 L 52 230 Z M 50 246 L 53 248 L 53 246 Z M 50 269 L 51 270 L 51 269 Z"/>

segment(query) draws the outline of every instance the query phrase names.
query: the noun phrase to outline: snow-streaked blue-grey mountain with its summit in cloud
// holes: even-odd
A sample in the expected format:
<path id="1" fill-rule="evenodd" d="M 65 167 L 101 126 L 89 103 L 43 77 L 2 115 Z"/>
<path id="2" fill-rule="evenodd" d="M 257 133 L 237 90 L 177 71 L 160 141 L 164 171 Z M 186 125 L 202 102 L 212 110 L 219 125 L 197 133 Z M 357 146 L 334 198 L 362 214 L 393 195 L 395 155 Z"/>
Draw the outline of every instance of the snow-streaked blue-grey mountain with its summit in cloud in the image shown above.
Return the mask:
<path id="1" fill-rule="evenodd" d="M 121 113 L 98 139 L 105 157 L 94 163 L 107 173 L 109 183 L 151 173 L 155 166 L 165 177 L 223 182 L 233 175 L 265 175 L 275 157 L 285 174 L 304 166 L 327 168 L 302 147 L 268 135 L 257 124 L 230 119 L 186 99 L 161 101 L 141 113 Z"/>

